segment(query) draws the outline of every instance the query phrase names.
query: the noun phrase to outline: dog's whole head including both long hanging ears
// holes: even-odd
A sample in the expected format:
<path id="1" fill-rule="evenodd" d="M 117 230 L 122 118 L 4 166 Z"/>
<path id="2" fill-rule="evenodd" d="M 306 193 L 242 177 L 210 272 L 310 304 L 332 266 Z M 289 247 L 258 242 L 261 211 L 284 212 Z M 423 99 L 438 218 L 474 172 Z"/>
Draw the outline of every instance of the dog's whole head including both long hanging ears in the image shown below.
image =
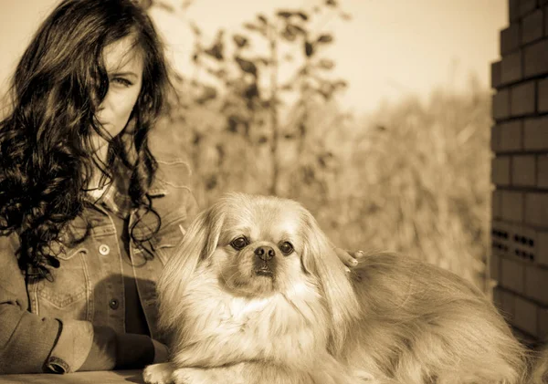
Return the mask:
<path id="1" fill-rule="evenodd" d="M 246 299 L 281 295 L 295 307 L 321 303 L 331 318 L 321 327 L 332 329 L 335 349 L 359 312 L 329 240 L 311 213 L 287 199 L 232 193 L 195 218 L 158 282 L 164 329 L 184 317 L 189 282 Z"/>

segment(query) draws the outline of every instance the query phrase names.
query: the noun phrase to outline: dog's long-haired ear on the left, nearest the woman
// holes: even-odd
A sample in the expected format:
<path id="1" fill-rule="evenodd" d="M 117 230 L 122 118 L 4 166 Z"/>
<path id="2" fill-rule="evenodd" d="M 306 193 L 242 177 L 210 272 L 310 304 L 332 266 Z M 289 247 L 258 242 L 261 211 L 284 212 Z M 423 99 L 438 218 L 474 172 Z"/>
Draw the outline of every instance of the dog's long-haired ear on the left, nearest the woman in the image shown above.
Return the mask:
<path id="1" fill-rule="evenodd" d="M 223 210 L 216 205 L 199 213 L 184 234 L 158 280 L 159 319 L 163 332 L 171 332 L 183 318 L 181 297 L 197 265 L 216 250 L 223 226 Z"/>

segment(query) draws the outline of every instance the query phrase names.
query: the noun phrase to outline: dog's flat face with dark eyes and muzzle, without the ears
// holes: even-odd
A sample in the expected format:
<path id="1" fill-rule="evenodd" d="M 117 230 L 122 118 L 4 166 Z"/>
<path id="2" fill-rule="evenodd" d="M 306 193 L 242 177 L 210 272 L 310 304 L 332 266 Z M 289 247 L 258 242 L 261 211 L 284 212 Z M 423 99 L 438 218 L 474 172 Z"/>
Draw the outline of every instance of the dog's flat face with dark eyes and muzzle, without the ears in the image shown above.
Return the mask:
<path id="1" fill-rule="evenodd" d="M 296 203 L 238 199 L 223 208 L 223 225 L 210 263 L 235 294 L 269 296 L 310 285 L 304 270 L 306 216 Z"/>

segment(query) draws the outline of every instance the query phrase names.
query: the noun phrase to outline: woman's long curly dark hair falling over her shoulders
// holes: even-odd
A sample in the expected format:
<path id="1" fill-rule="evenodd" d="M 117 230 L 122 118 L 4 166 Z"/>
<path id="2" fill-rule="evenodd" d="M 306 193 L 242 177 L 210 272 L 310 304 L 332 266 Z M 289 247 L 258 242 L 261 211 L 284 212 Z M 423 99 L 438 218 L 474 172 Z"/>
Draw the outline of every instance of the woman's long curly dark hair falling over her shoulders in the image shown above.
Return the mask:
<path id="1" fill-rule="evenodd" d="M 95 118 L 109 89 L 102 52 L 126 36 L 143 59 L 142 89 L 132 129 L 109 138 Z M 155 215 L 158 231 L 160 217 L 146 194 L 157 168 L 147 137 L 169 85 L 153 23 L 131 0 L 64 0 L 38 28 L 0 121 L 0 234 L 18 235 L 17 258 L 27 276 L 52 278 L 59 261 L 51 245 L 89 203 L 85 189 L 98 167 L 103 179 L 116 174 L 117 164 L 126 168 L 133 208 L 141 218 Z M 90 155 L 94 133 L 109 140 L 105 162 Z M 129 145 L 122 136 L 132 138 Z"/>

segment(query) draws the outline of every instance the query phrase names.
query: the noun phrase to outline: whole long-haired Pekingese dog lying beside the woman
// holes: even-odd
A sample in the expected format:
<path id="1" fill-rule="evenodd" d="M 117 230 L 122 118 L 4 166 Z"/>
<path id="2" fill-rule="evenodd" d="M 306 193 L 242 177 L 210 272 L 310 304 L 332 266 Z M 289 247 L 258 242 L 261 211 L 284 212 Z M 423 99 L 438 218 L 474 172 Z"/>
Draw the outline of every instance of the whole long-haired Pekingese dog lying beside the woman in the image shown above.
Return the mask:
<path id="1" fill-rule="evenodd" d="M 158 282 L 169 363 L 147 383 L 513 384 L 525 351 L 490 301 L 443 269 L 369 254 L 345 271 L 298 202 L 229 194 Z"/>

